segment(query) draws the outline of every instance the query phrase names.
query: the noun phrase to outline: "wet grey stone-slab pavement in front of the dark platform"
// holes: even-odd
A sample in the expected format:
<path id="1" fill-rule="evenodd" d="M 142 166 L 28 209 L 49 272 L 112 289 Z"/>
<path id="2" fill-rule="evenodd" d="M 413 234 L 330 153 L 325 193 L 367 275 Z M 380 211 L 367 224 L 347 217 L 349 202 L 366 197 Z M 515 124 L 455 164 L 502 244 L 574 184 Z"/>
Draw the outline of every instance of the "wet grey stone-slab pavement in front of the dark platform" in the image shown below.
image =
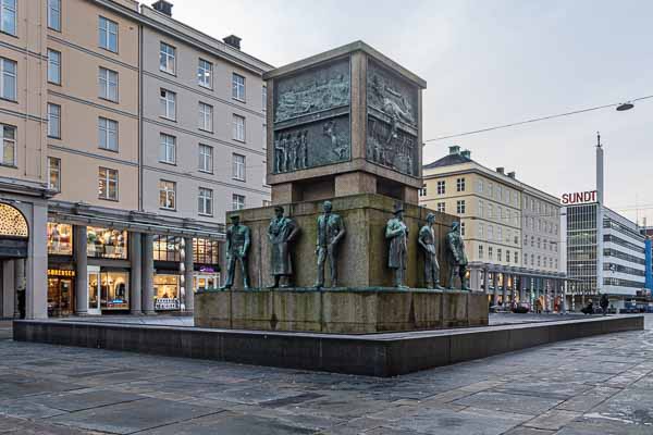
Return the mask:
<path id="1" fill-rule="evenodd" d="M 653 434 L 646 331 L 390 380 L 0 338 L 0 434 Z"/>

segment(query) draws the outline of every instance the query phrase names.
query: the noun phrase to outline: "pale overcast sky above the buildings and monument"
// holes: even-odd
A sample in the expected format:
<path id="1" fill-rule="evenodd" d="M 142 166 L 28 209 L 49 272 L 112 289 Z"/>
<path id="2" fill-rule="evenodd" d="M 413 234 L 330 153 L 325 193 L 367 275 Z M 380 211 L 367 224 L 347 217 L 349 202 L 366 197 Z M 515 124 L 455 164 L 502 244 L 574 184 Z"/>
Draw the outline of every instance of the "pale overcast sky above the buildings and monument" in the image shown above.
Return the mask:
<path id="1" fill-rule="evenodd" d="M 653 95 L 650 0 L 173 2 L 175 18 L 275 66 L 362 39 L 428 82 L 424 140 Z M 430 142 L 424 163 L 459 145 L 553 195 L 590 190 L 596 130 L 606 204 L 653 225 L 653 99 Z"/>

